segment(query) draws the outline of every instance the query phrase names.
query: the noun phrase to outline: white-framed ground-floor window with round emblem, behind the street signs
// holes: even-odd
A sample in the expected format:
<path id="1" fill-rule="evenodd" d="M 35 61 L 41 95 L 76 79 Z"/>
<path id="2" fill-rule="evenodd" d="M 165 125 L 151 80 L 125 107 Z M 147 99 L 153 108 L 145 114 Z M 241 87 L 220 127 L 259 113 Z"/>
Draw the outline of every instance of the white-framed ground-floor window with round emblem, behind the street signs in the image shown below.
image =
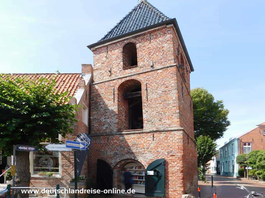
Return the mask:
<path id="1" fill-rule="evenodd" d="M 61 141 L 62 136 L 59 135 L 56 139 L 53 142 Z M 49 140 L 45 140 L 40 144 L 46 145 L 50 142 Z M 30 152 L 31 175 L 38 175 L 40 172 L 52 172 L 54 175 L 61 175 L 61 161 L 61 153 L 58 151 L 40 149 L 37 152 Z"/>

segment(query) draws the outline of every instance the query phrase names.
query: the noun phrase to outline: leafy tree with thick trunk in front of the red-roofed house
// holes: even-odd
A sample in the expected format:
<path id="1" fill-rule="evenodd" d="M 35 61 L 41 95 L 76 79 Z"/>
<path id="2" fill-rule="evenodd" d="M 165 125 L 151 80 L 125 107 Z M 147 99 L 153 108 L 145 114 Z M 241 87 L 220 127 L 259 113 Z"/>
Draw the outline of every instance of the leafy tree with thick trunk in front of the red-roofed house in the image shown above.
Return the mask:
<path id="1" fill-rule="evenodd" d="M 72 132 L 77 109 L 69 104 L 67 92 L 56 92 L 55 78 L 32 81 L 0 74 L 0 150 L 4 155 L 11 155 L 13 145 L 40 148 L 40 142 Z M 16 186 L 28 187 L 29 181 L 29 152 L 17 151 Z M 19 195 L 28 197 L 21 191 Z"/>

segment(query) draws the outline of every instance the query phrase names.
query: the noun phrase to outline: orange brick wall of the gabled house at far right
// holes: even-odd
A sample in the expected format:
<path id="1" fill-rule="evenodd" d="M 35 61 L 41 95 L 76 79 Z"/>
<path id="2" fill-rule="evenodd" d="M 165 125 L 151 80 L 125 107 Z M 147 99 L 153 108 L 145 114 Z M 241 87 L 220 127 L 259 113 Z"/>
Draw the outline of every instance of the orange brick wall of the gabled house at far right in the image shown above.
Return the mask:
<path id="1" fill-rule="evenodd" d="M 265 136 L 262 133 L 265 130 L 264 126 L 258 126 L 239 139 L 239 153 L 243 153 L 243 143 L 251 142 L 251 150 L 265 150 Z"/>

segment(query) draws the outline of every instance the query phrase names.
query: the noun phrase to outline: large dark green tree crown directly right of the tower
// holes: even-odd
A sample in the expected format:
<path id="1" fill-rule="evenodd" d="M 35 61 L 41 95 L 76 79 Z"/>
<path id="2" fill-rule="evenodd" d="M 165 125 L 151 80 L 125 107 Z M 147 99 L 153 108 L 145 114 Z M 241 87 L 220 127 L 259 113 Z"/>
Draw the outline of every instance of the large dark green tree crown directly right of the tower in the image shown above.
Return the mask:
<path id="1" fill-rule="evenodd" d="M 191 97 L 195 138 L 201 135 L 210 136 L 213 140 L 221 138 L 230 125 L 229 111 L 224 108 L 223 101 L 215 101 L 213 95 L 203 88 L 192 89 Z"/>

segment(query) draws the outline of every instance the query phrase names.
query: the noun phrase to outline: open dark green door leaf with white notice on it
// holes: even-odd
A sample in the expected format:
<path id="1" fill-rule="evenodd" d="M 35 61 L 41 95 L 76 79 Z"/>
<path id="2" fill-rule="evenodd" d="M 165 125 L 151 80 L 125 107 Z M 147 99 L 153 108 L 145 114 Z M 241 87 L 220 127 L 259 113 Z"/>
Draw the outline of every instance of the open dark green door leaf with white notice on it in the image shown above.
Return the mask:
<path id="1" fill-rule="evenodd" d="M 145 171 L 145 196 L 165 196 L 165 159 L 153 161 Z"/>

